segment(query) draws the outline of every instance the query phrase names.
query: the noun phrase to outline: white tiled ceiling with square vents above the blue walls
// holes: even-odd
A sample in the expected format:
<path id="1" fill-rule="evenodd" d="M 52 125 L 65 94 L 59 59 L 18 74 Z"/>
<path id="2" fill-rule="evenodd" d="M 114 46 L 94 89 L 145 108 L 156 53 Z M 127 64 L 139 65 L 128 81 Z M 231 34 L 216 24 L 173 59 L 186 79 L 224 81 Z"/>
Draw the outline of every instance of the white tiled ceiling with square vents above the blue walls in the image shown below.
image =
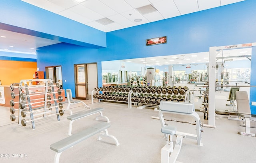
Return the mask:
<path id="1" fill-rule="evenodd" d="M 104 32 L 243 0 L 22 0 Z"/>

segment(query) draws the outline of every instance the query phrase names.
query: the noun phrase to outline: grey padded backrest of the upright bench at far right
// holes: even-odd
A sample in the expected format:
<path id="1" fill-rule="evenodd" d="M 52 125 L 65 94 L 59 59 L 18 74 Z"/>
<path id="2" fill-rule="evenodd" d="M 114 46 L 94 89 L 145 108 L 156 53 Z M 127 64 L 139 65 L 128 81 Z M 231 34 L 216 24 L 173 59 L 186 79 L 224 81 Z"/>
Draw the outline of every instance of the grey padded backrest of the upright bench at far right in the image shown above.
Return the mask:
<path id="1" fill-rule="evenodd" d="M 247 91 L 236 91 L 237 111 L 240 114 L 251 114 Z"/>

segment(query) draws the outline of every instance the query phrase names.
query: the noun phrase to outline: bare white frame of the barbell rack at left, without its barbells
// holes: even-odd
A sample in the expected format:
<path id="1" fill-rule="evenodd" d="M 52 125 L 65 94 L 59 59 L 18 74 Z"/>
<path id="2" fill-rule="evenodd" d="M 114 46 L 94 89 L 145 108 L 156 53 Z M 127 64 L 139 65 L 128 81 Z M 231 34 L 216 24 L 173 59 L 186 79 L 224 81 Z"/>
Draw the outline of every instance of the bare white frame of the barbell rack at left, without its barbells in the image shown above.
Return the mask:
<path id="1" fill-rule="evenodd" d="M 32 83 L 32 82 L 37 82 L 37 83 L 41 83 L 40 86 L 38 85 L 28 85 L 28 83 Z M 42 84 L 44 83 L 44 84 Z M 44 109 L 43 110 L 43 117 L 46 117 L 46 113 L 47 113 L 47 109 L 48 109 L 48 106 L 47 106 L 47 96 L 52 94 L 53 98 L 56 99 L 56 94 L 54 93 L 54 86 L 53 85 L 53 82 L 51 79 L 30 79 L 30 80 L 20 80 L 20 85 L 18 86 L 18 89 L 19 89 L 19 116 L 18 116 L 18 124 L 21 124 L 22 123 L 22 115 L 21 115 L 21 112 L 22 112 L 22 109 L 20 108 L 20 102 L 24 102 L 26 101 L 26 105 L 28 106 L 28 111 L 30 113 L 30 120 L 31 121 L 31 124 L 32 124 L 32 129 L 35 129 L 35 123 L 34 123 L 34 114 L 32 111 L 35 111 L 36 109 Z M 37 107 L 37 108 L 33 108 L 32 109 L 32 104 L 33 102 L 31 103 L 31 94 L 30 94 L 30 91 L 29 89 L 30 88 L 35 88 L 35 87 L 42 87 L 44 88 L 44 91 L 42 91 L 42 94 L 44 94 L 44 101 L 42 102 L 34 102 L 34 103 L 44 103 L 44 106 L 43 107 Z M 48 89 L 49 88 L 49 89 Z M 25 93 L 23 93 L 22 89 L 25 89 Z M 42 89 L 43 90 L 43 89 Z M 21 98 L 21 94 L 25 94 L 24 97 L 25 98 Z M 40 95 L 42 95 L 40 94 Z M 60 121 L 60 114 L 59 111 L 58 111 L 58 105 L 57 105 L 57 101 L 56 100 L 53 100 L 54 101 L 54 106 L 51 107 L 51 108 L 55 108 L 56 110 L 56 116 L 57 116 L 57 120 Z"/>

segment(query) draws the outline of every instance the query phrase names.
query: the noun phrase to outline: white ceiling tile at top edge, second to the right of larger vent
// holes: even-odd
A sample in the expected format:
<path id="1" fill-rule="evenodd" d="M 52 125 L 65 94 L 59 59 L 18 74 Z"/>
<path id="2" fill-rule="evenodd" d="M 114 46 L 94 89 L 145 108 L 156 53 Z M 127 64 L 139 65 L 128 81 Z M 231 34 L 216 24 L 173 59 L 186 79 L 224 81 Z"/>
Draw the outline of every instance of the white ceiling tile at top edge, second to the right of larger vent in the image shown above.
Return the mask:
<path id="1" fill-rule="evenodd" d="M 180 14 L 189 14 L 199 11 L 197 0 L 173 0 L 176 4 Z M 189 4 L 189 5 L 186 5 Z"/>

